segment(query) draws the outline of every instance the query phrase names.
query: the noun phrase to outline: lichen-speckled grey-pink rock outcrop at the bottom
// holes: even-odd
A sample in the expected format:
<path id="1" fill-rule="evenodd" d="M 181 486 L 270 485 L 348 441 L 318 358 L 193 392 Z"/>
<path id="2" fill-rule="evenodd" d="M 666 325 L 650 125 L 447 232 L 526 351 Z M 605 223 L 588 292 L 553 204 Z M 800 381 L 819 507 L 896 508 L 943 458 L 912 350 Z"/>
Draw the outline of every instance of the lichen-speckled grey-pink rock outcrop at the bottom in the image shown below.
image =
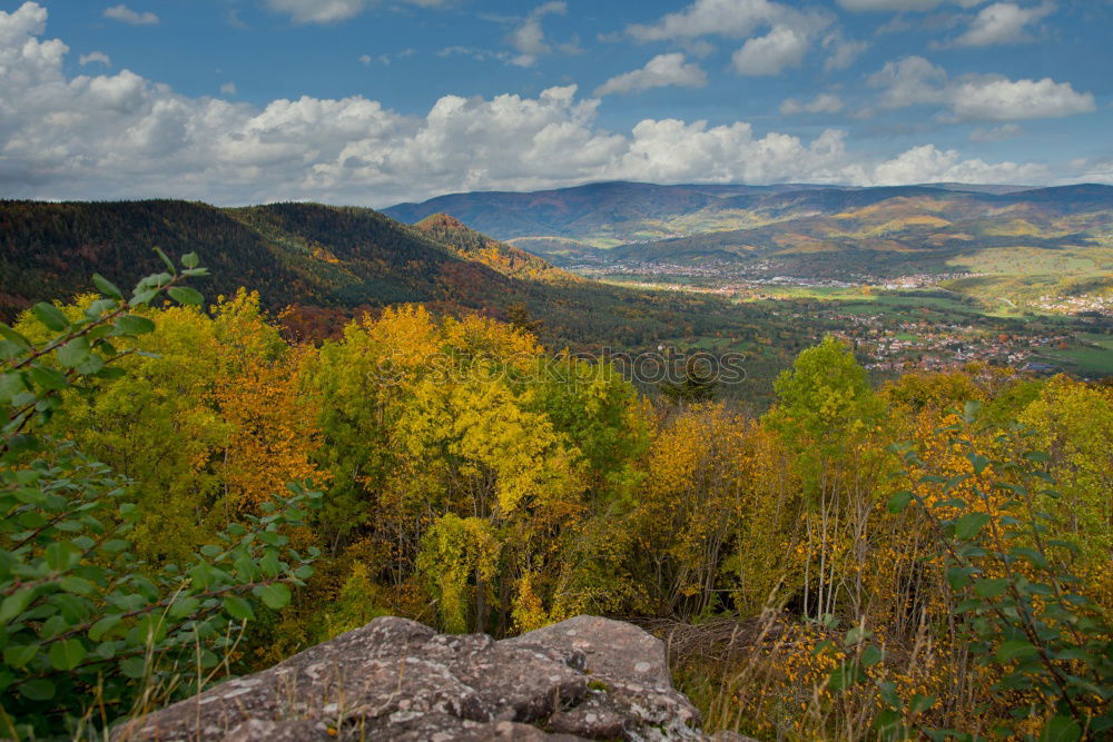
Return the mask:
<path id="1" fill-rule="evenodd" d="M 664 645 L 628 623 L 579 616 L 496 642 L 376 619 L 114 739 L 706 739 L 698 725 Z"/>

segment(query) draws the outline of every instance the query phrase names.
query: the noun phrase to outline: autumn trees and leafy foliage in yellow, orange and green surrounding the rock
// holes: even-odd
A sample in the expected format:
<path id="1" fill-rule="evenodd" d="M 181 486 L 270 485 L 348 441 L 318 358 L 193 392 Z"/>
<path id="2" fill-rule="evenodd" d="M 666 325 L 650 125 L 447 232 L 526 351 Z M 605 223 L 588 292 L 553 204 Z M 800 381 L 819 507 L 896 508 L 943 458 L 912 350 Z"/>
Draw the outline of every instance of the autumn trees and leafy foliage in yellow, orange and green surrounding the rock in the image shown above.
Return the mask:
<path id="1" fill-rule="evenodd" d="M 592 613 L 758 621 L 746 653 L 681 670 L 712 725 L 769 739 L 1107 729 L 1109 386 L 975 365 L 875 388 L 829 338 L 765 415 L 654 406 L 609 366 L 480 315 L 387 308 L 314 345 L 252 293 L 145 308 L 176 276 L 130 309 L 87 296 L 4 328 L 9 723 L 58 729 L 66 712 L 72 728 L 80 701 L 96 725 L 97 706 L 118 718 L 196 691 L 190 641 L 215 680 L 376 615 L 505 635 Z M 51 546 L 93 528 L 61 528 L 73 495 L 48 497 L 88 481 L 71 451 L 118 479 L 97 485 L 112 493 L 97 523 L 126 531 L 121 584 L 147 581 L 147 597 L 100 584 L 117 558 L 104 537 Z M 319 508 L 276 505 L 287 482 L 312 483 L 295 493 L 318 489 Z M 35 515 L 50 503 L 61 515 Z M 175 590 L 196 604 L 159 597 Z M 87 604 L 57 597 L 70 592 Z M 184 623 L 142 623 L 150 606 Z M 206 634 L 198 615 L 225 623 Z M 237 621 L 246 634 L 214 644 Z M 116 674 L 114 653 L 145 642 L 148 665 Z"/>

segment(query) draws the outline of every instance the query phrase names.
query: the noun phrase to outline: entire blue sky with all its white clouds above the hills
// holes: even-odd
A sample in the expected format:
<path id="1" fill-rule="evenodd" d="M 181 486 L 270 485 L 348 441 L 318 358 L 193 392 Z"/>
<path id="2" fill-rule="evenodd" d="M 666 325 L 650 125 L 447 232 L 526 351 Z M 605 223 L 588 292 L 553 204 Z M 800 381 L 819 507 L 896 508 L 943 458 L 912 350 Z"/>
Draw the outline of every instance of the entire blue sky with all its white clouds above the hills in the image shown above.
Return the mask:
<path id="1" fill-rule="evenodd" d="M 0 0 L 0 197 L 1113 182 L 1113 0 Z"/>

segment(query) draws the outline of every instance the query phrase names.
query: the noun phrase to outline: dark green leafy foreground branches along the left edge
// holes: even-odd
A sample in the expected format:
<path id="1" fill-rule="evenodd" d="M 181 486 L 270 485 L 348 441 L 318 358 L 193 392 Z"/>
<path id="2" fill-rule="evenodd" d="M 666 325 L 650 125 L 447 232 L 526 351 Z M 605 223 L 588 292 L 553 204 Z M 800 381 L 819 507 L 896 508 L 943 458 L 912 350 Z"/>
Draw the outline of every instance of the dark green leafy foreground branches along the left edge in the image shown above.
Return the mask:
<path id="1" fill-rule="evenodd" d="M 262 606 L 280 609 L 313 574 L 317 555 L 289 546 L 319 493 L 309 483 L 229 523 L 183 564 L 140 560 L 128 540 L 140 512 L 129 482 L 40 428 L 67 395 L 95 396 L 115 366 L 154 332 L 144 314 L 167 296 L 199 305 L 181 283 L 203 276 L 195 255 L 179 271 L 145 278 L 130 298 L 107 279 L 105 298 L 77 318 L 32 309 L 46 339 L 0 325 L 0 733 L 88 736 L 119 718 L 226 674 L 220 667 Z"/>

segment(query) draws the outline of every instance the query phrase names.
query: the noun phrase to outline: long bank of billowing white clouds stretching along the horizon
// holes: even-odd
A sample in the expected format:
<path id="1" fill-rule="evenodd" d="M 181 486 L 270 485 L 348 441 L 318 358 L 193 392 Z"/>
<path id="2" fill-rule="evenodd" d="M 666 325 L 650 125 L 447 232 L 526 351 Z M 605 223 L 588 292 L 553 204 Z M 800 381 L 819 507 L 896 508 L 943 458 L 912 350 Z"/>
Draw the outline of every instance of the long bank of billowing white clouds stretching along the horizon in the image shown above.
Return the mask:
<path id="1" fill-rule="evenodd" d="M 889 160 L 847 149 L 846 132 L 807 140 L 743 121 L 598 122 L 574 86 L 536 97 L 445 96 L 405 116 L 362 96 L 266 106 L 193 98 L 129 70 L 65 71 L 43 38 L 46 9 L 0 12 L 0 197 L 178 197 L 387 204 L 474 189 L 599 180 L 873 184 L 1027 181 L 1034 166 L 964 160 L 932 146 Z"/>

